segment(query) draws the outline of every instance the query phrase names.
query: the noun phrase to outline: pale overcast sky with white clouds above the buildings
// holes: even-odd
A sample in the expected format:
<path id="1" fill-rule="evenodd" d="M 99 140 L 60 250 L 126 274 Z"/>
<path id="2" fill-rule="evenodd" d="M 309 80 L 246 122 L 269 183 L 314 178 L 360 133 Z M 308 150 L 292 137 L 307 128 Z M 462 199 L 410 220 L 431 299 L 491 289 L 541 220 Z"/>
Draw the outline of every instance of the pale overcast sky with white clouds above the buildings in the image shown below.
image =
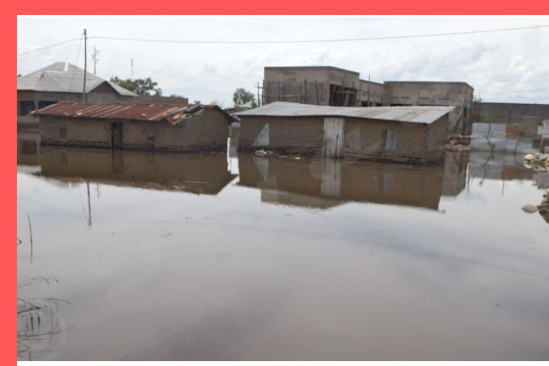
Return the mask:
<path id="1" fill-rule="evenodd" d="M 327 40 L 423 35 L 547 25 L 545 18 L 21 18 L 17 53 L 81 37 L 185 41 Z M 549 29 L 404 40 L 305 44 L 178 44 L 88 40 L 97 75 L 151 77 L 165 95 L 232 103 L 238 87 L 256 92 L 264 66 L 330 65 L 383 82 L 465 81 L 489 102 L 548 103 Z M 79 52 L 80 48 L 80 52 Z M 17 58 L 18 74 L 57 61 L 84 64 L 80 41 Z"/>

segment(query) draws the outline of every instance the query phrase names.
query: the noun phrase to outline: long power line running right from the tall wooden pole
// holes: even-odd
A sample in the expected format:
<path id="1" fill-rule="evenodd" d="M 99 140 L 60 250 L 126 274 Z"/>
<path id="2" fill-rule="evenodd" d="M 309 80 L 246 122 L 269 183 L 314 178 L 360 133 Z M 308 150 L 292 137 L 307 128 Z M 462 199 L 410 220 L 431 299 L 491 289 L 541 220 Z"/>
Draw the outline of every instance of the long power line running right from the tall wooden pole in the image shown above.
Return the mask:
<path id="1" fill-rule="evenodd" d="M 412 36 L 388 36 L 388 37 L 369 37 L 369 38 L 339 38 L 339 39 L 333 39 L 333 40 L 298 40 L 298 41 L 180 41 L 180 40 L 153 40 L 153 39 L 147 39 L 147 38 L 103 37 L 103 36 L 89 37 L 89 39 L 112 40 L 112 41 L 187 43 L 187 44 L 188 43 L 199 43 L 199 44 L 325 43 L 325 42 L 379 41 L 379 40 L 397 40 L 397 39 L 407 39 L 407 38 L 426 38 L 426 37 L 471 35 L 471 34 L 478 34 L 478 33 L 518 31 L 518 30 L 547 28 L 547 27 L 549 27 L 549 25 L 535 25 L 535 26 L 528 26 L 528 27 L 514 27 L 514 28 L 500 28 L 500 29 L 486 29 L 486 30 L 480 30 L 480 31 L 430 33 L 430 34 L 425 34 L 425 35 L 412 35 Z"/>

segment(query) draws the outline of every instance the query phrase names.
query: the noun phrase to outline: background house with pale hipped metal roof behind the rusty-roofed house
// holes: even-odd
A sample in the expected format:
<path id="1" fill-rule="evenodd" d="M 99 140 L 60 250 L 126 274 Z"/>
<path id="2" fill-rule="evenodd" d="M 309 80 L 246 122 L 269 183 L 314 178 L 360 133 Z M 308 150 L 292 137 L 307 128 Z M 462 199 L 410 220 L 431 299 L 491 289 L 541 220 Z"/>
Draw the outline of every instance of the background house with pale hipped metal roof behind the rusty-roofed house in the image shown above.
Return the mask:
<path id="1" fill-rule="evenodd" d="M 55 104 L 61 100 L 81 102 L 84 70 L 68 62 L 57 62 L 17 78 L 17 115 Z M 88 102 L 124 102 L 137 94 L 86 72 Z"/>

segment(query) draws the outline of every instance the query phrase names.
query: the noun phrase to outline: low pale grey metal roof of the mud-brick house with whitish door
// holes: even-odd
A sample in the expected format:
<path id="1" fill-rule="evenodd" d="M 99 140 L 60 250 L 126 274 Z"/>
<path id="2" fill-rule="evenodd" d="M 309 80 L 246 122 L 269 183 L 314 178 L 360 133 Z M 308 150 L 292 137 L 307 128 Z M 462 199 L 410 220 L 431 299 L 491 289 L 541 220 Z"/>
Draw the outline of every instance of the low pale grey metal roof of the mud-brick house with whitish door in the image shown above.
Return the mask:
<path id="1" fill-rule="evenodd" d="M 433 123 L 451 112 L 453 106 L 396 106 L 396 107 L 333 107 L 323 105 L 275 102 L 258 108 L 238 112 L 237 116 L 306 117 L 333 116 L 355 117 L 408 123 Z"/>

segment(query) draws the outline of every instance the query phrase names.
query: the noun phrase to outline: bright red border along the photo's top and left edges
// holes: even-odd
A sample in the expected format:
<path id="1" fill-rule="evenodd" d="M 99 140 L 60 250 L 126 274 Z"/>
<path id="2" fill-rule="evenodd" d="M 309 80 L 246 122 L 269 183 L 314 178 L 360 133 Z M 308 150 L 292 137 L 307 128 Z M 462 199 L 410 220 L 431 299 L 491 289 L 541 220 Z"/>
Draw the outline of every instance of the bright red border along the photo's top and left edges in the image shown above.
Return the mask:
<path id="1" fill-rule="evenodd" d="M 171 14 L 184 14 L 184 15 L 205 15 L 204 13 L 210 13 L 210 15 L 257 15 L 265 14 L 269 15 L 270 13 L 275 13 L 276 15 L 289 15 L 292 13 L 295 15 L 348 15 L 351 13 L 355 14 L 386 14 L 391 12 L 397 12 L 398 14 L 394 15 L 427 15 L 427 14 L 437 14 L 444 12 L 477 12 L 477 13 L 498 13 L 498 15 L 512 15 L 513 13 L 520 12 L 523 15 L 535 14 L 535 13 L 545 13 L 549 14 L 549 2 L 534 1 L 528 3 L 520 3 L 520 7 L 517 7 L 518 4 L 502 3 L 502 2 L 492 2 L 492 1 L 462 1 L 459 3 L 442 3 L 440 1 L 435 2 L 433 0 L 422 1 L 422 2 L 411 2 L 411 1 L 391 1 L 391 2 L 345 2 L 345 6 L 335 8 L 333 2 L 318 2 L 318 1 L 308 1 L 308 2 L 296 2 L 288 0 L 279 0 L 277 2 L 262 3 L 257 1 L 244 0 L 238 2 L 238 7 L 234 2 L 231 1 L 220 1 L 214 0 L 208 2 L 208 10 L 203 10 L 204 5 L 200 3 L 186 3 L 186 2 L 176 2 L 169 1 L 161 3 L 160 7 L 152 7 L 151 3 L 143 2 L 112 2 L 112 1 L 103 1 L 98 0 L 92 3 L 76 3 L 76 2 L 25 2 L 24 9 L 15 9 L 16 5 L 4 3 L 4 13 L 2 15 L 2 28 L 4 29 L 4 34 L 9 35 L 11 31 L 15 29 L 16 32 L 16 17 L 11 15 L 11 11 L 15 10 L 15 13 L 18 12 L 29 12 L 33 14 L 42 14 L 42 15 L 61 15 L 66 13 L 88 13 L 93 12 L 95 14 L 101 13 L 110 13 L 110 14 L 127 14 L 128 10 L 132 15 L 161 15 L 167 12 Z M 201 10 L 197 10 L 201 9 Z M 195 13 L 195 14 L 191 14 Z M 198 14 L 196 14 L 198 13 Z M 69 14 L 67 14 L 69 15 Z M 272 15 L 272 14 L 271 14 Z M 541 14 L 540 14 L 541 15 Z M 549 20 L 549 18 L 547 19 Z M 15 21 L 15 24 L 13 24 Z M 13 61 L 12 61 L 13 62 Z M 2 61 L 2 63 L 7 63 L 7 61 Z M 15 61 L 16 67 L 16 61 Z M 5 77 L 13 77 L 12 80 L 15 80 L 15 77 L 9 71 L 8 67 L 3 67 L 3 74 Z M 6 71 L 8 70 L 8 71 Z M 4 79 L 5 80 L 5 79 Z M 12 94 L 11 98 L 16 95 Z M 2 89 L 2 100 L 13 100 L 8 98 L 8 88 Z M 11 102 L 12 105 L 15 105 L 15 102 Z M 8 104 L 9 106 L 9 104 Z M 16 125 L 12 122 L 4 121 L 8 123 L 8 131 L 16 134 Z M 13 127 L 12 127 L 13 126 Z M 1 201 L 3 204 L 2 212 L 2 233 L 4 233 L 4 256 L 2 256 L 2 281 L 3 281 L 3 294 L 4 299 L 1 303 L 2 311 L 0 314 L 3 314 L 3 331 L 1 334 L 2 342 L 0 348 L 0 356 L 3 361 L 16 359 L 16 354 L 14 352 L 14 342 L 13 334 L 9 334 L 9 329 L 16 328 L 16 319 L 10 314 L 11 304 L 13 301 L 12 297 L 8 297 L 7 294 L 12 294 L 13 287 L 16 284 L 16 262 L 13 260 L 16 257 L 16 247 L 13 246 L 13 237 L 7 233 L 12 232 L 13 228 L 16 231 L 16 216 L 8 211 L 9 207 L 17 209 L 16 201 L 16 190 L 17 183 L 12 181 L 13 176 L 9 173 L 8 167 L 12 166 L 13 162 L 16 160 L 16 139 L 14 137 L 7 138 L 2 144 L 0 144 L 2 149 L 2 154 L 0 154 L 0 160 L 2 161 L 2 179 L 4 189 L 1 193 Z M 15 235 L 14 235 L 15 236 Z M 548 238 L 549 240 L 549 238 Z M 12 243 L 12 244 L 9 244 Z M 7 247 L 12 247 L 12 249 L 7 250 Z M 16 292 L 16 288 L 15 288 Z"/>

